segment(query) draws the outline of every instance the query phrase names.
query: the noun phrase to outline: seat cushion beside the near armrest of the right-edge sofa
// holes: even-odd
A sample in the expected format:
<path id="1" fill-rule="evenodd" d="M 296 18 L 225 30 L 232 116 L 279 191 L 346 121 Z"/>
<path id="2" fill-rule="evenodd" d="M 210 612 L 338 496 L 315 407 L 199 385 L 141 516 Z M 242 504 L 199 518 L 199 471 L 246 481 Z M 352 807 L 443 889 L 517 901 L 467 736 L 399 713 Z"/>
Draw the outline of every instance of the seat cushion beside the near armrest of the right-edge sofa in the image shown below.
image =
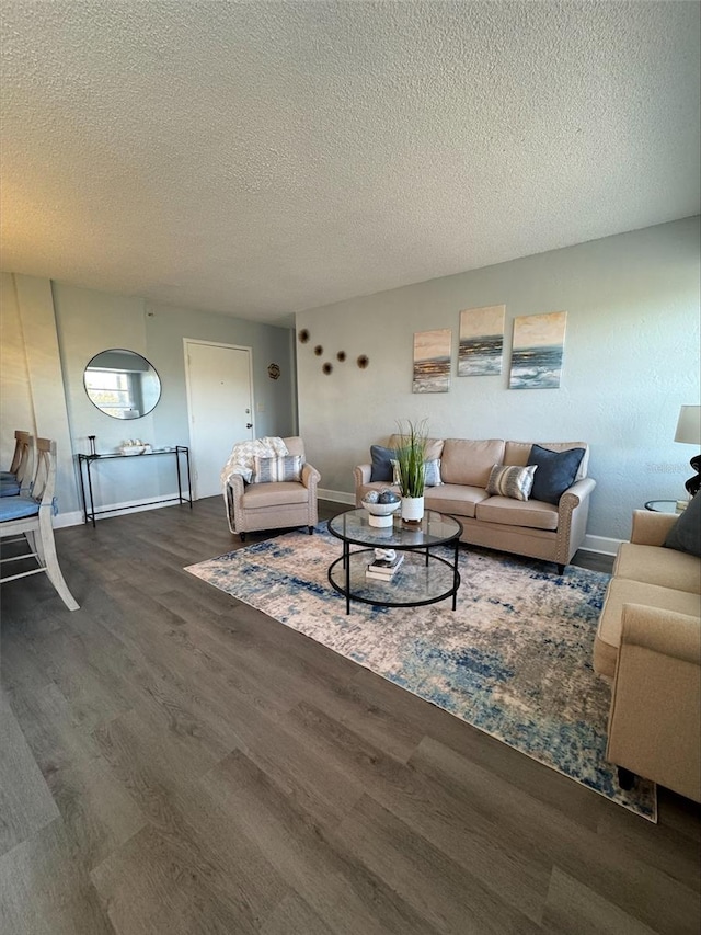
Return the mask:
<path id="1" fill-rule="evenodd" d="M 618 648 L 621 643 L 623 604 L 644 604 L 663 611 L 677 611 L 692 617 L 701 614 L 701 597 L 698 594 L 627 578 L 613 578 L 606 592 L 594 647 L 596 671 L 611 677 L 616 674 Z"/>

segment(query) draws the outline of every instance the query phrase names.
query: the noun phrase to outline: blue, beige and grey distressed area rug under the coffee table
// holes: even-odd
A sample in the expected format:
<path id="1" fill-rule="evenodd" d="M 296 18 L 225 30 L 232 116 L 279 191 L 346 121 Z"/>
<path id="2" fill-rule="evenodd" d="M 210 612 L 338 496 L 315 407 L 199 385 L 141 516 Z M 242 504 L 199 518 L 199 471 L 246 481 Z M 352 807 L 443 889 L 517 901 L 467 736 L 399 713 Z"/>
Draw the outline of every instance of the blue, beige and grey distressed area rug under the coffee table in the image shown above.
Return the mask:
<path id="1" fill-rule="evenodd" d="M 650 821 L 656 790 L 622 790 L 605 759 L 610 689 L 594 672 L 609 577 L 484 549 L 460 549 L 462 583 L 426 607 L 372 607 L 329 584 L 341 555 L 325 524 L 186 571 L 353 659 Z M 397 585 L 401 584 L 398 572 Z"/>

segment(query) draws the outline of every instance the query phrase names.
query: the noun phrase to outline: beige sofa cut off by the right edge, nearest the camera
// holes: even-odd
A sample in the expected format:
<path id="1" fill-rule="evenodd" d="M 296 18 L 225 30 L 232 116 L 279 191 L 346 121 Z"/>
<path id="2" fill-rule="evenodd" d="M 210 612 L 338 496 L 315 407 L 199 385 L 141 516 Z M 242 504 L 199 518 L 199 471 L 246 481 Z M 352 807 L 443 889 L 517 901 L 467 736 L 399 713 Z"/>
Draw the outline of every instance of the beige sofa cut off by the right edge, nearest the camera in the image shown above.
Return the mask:
<path id="1" fill-rule="evenodd" d="M 608 759 L 701 801 L 701 559 L 663 547 L 676 518 L 634 512 L 599 618 L 594 668 L 612 682 Z"/>

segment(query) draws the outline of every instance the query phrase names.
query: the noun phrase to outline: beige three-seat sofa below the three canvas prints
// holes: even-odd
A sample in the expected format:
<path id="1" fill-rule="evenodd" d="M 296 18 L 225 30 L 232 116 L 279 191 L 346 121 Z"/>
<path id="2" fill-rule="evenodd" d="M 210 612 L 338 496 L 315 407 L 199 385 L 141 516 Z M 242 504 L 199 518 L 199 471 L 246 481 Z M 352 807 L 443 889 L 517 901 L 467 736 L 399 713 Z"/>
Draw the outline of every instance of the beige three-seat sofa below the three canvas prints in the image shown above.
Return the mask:
<path id="1" fill-rule="evenodd" d="M 392 435 L 387 447 L 395 448 L 398 444 L 399 438 Z M 486 484 L 492 467 L 525 466 L 532 444 L 554 452 L 584 448 L 575 482 L 562 494 L 559 504 L 490 495 Z M 586 534 L 589 495 L 596 487 L 596 481 L 587 477 L 589 448 L 585 442 L 432 438 L 425 457 L 426 460 L 440 458 L 444 481 L 439 487 L 426 488 L 425 506 L 460 520 L 462 541 L 554 561 L 561 573 L 581 547 Z M 389 486 L 387 481 L 371 482 L 370 476 L 369 464 L 354 468 L 358 506 L 369 490 Z"/>

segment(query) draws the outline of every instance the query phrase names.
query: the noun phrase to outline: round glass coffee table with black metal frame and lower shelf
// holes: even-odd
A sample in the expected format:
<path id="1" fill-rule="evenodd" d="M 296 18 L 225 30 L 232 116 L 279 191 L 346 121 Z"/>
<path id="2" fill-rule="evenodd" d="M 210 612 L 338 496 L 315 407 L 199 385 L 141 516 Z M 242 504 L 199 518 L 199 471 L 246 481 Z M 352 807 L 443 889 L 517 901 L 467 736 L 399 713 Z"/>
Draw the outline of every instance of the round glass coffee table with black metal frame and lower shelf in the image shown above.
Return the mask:
<path id="1" fill-rule="evenodd" d="M 343 543 L 343 555 L 329 567 L 329 582 L 346 598 L 346 614 L 350 613 L 350 601 L 378 607 L 420 607 L 452 597 L 456 609 L 462 524 L 452 516 L 427 510 L 417 525 L 394 516 L 391 526 L 378 527 L 370 526 L 367 511 L 359 509 L 338 513 L 329 521 L 329 532 Z M 352 551 L 352 545 L 361 548 Z M 452 545 L 451 560 L 432 551 L 447 545 Z M 390 581 L 365 577 L 376 548 L 404 552 Z"/>

